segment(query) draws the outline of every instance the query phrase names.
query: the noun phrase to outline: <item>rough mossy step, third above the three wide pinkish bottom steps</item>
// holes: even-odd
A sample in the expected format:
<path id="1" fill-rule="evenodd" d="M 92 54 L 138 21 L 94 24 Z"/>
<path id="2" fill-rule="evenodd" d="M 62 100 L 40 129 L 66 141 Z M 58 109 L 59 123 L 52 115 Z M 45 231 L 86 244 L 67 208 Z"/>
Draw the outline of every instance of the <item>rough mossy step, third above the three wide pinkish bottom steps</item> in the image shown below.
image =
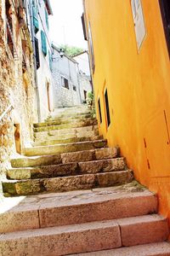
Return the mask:
<path id="1" fill-rule="evenodd" d="M 111 159 L 116 158 L 119 155 L 119 148 L 96 148 L 63 154 L 14 158 L 11 160 L 11 166 L 18 168 L 59 165 L 71 162 L 75 163 L 81 161 L 85 162 L 92 160 Z"/>

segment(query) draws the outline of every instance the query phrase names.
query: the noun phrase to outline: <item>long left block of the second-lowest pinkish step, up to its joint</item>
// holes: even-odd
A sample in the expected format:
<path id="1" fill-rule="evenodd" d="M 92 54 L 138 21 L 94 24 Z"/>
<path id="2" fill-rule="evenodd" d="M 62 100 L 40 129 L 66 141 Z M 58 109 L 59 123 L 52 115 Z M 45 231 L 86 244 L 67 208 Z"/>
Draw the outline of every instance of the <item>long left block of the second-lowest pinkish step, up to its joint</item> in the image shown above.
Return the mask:
<path id="1" fill-rule="evenodd" d="M 0 251 L 6 255 L 57 256 L 69 253 L 121 247 L 115 221 L 74 224 L 38 230 L 26 230 L 0 236 Z"/>

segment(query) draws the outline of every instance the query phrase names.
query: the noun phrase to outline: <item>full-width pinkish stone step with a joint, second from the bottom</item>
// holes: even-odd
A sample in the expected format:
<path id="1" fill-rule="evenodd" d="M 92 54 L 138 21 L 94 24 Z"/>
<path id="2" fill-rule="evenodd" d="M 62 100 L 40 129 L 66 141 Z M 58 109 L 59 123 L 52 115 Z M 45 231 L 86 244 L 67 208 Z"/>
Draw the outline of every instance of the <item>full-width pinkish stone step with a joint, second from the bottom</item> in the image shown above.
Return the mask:
<path id="1" fill-rule="evenodd" d="M 66 255 L 165 241 L 167 219 L 158 215 L 95 221 L 0 236 L 3 255 Z"/>

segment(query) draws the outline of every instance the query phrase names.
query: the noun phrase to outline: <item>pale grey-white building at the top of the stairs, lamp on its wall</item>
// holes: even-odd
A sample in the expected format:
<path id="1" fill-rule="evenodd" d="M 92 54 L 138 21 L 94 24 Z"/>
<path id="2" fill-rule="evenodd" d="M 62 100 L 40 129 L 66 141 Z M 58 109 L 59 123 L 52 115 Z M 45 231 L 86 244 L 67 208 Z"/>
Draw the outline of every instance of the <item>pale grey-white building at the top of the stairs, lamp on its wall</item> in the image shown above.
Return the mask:
<path id="1" fill-rule="evenodd" d="M 74 58 L 53 47 L 54 108 L 80 105 L 91 90 L 89 77 L 81 73 Z"/>

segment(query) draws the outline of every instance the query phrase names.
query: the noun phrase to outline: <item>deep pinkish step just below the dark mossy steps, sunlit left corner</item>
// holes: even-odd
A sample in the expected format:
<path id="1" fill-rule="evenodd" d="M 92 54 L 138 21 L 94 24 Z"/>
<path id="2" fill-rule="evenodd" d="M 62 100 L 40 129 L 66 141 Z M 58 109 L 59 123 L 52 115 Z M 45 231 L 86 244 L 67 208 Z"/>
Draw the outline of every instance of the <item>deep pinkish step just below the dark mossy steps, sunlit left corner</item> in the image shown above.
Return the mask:
<path id="1" fill-rule="evenodd" d="M 76 192 L 27 196 L 20 202 L 13 198 L 14 203 L 10 199 L 10 205 L 15 206 L 0 213 L 0 232 L 135 217 L 157 211 L 156 195 L 142 189 L 128 191 L 126 185 Z"/>

